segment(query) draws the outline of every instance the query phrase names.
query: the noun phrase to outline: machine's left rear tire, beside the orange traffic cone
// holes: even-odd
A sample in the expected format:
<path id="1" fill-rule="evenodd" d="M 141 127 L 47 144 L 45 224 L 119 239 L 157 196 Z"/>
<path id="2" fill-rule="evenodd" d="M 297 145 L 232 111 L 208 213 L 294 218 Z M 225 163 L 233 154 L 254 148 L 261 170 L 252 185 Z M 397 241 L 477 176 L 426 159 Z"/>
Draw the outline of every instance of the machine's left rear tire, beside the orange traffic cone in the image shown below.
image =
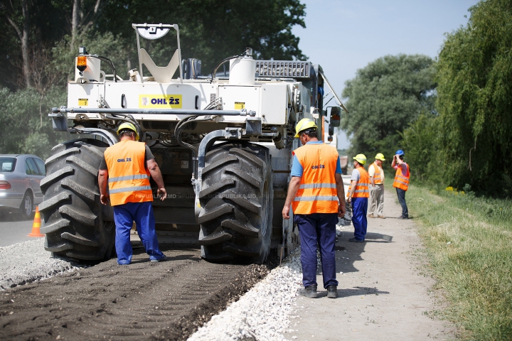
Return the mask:
<path id="1" fill-rule="evenodd" d="M 102 205 L 97 173 L 108 144 L 95 139 L 63 142 L 53 147 L 41 180 L 44 199 L 39 210 L 45 249 L 68 259 L 110 259 L 115 227 L 112 207 Z"/>

